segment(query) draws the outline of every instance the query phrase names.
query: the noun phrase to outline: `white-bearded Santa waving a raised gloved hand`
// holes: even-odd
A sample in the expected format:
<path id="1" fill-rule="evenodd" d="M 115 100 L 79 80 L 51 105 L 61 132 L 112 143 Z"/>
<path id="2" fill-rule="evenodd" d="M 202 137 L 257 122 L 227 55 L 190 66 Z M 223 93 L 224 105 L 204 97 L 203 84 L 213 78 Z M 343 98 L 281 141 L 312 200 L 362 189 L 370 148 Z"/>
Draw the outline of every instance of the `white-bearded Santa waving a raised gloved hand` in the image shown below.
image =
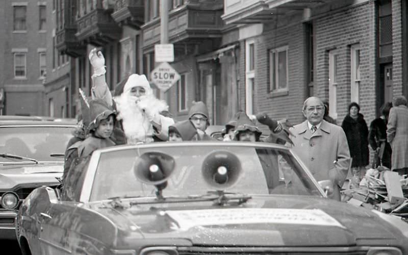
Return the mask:
<path id="1" fill-rule="evenodd" d="M 94 68 L 92 95 L 116 106 L 117 119 L 121 121 L 127 144 L 167 141 L 168 127 L 174 120 L 163 114 L 168 111 L 168 105 L 155 97 L 146 76 L 131 74 L 123 86 L 123 92 L 112 100 L 105 79 L 103 54 L 92 49 L 89 60 Z"/>

